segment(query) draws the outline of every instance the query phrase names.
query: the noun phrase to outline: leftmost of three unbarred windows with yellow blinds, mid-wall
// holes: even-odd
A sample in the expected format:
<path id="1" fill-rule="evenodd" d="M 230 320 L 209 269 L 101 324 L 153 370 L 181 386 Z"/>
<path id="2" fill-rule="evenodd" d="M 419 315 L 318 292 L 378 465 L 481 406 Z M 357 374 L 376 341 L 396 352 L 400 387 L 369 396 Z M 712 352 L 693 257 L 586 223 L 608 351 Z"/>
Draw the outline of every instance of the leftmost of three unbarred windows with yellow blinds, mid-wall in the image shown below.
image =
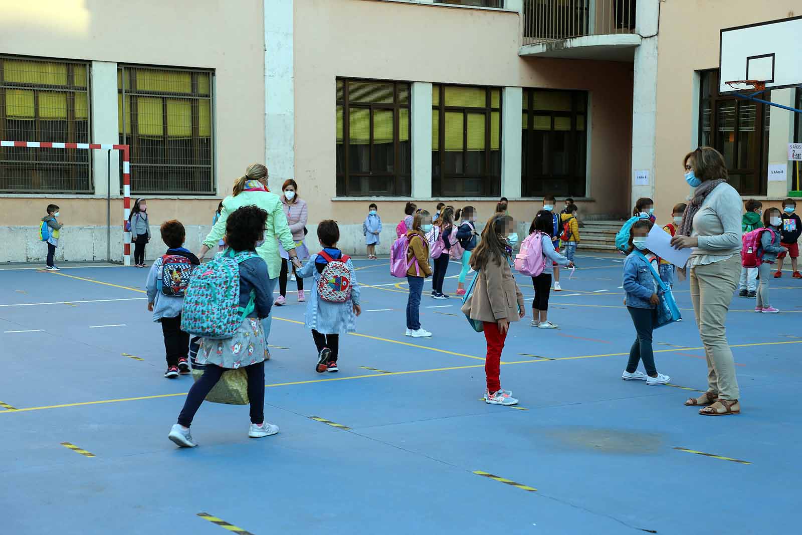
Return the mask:
<path id="1" fill-rule="evenodd" d="M 410 84 L 337 80 L 337 195 L 409 197 Z"/>

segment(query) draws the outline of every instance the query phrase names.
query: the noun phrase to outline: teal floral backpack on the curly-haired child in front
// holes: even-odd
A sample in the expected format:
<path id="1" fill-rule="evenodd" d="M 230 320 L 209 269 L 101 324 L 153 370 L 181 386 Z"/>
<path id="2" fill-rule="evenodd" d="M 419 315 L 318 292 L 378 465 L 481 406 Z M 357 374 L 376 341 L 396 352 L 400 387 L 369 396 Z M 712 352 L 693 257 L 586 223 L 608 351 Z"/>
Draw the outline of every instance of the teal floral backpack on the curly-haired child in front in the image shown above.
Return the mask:
<path id="1" fill-rule="evenodd" d="M 203 338 L 225 339 L 237 334 L 245 316 L 253 312 L 254 294 L 240 306 L 240 264 L 257 258 L 253 251 L 217 253 L 213 260 L 192 271 L 184 294 L 181 330 Z"/>

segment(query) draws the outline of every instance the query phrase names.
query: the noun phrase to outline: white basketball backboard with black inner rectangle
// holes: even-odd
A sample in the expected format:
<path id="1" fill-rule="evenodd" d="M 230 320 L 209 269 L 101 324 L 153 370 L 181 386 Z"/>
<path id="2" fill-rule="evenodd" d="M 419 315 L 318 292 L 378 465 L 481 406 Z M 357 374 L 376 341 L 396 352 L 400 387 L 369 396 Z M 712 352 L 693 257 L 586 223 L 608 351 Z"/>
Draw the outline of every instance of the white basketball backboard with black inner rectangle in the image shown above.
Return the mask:
<path id="1" fill-rule="evenodd" d="M 802 16 L 721 30 L 719 92 L 751 91 L 755 80 L 766 89 L 802 85 Z"/>

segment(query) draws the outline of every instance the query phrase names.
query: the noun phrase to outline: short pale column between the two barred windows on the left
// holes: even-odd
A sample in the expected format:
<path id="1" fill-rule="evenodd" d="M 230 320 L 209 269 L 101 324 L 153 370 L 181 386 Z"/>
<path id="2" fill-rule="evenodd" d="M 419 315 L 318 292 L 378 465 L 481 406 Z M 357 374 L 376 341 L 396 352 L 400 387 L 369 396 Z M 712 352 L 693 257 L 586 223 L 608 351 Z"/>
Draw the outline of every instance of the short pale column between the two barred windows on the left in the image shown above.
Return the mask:
<path id="1" fill-rule="evenodd" d="M 91 122 L 90 143 L 119 143 L 119 117 L 117 108 L 117 64 L 106 61 L 93 61 L 91 71 Z M 95 195 L 106 197 L 108 151 L 92 151 L 92 176 L 95 181 Z M 119 154 L 111 151 L 111 195 L 119 195 Z M 119 213 L 112 214 L 113 221 Z"/>

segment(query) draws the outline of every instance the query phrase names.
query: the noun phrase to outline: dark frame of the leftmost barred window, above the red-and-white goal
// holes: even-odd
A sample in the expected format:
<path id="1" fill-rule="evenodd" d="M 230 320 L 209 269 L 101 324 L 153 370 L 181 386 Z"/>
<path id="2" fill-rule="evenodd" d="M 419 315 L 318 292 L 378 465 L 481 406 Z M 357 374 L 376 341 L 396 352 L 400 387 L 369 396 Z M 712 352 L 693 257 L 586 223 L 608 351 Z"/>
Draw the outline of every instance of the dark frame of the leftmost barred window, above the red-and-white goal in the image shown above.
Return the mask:
<path id="1" fill-rule="evenodd" d="M 67 84 L 51 83 L 23 83 L 6 82 L 3 71 L 5 60 L 23 61 L 31 63 L 63 63 L 66 65 Z M 86 71 L 85 85 L 75 83 L 75 67 L 83 67 Z M 40 58 L 20 55 L 0 55 L 0 140 L 6 141 L 41 141 L 59 143 L 89 143 L 91 138 L 91 62 L 76 61 L 71 59 Z M 6 116 L 6 90 L 24 90 L 34 92 L 34 118 L 33 128 L 26 129 L 32 132 L 30 135 L 23 136 L 24 139 L 15 139 L 16 128 L 12 128 L 10 123 L 25 121 L 25 119 L 13 119 Z M 57 91 L 66 94 L 67 117 L 58 120 L 64 123 L 66 135 L 59 139 L 45 139 L 47 128 L 43 122 L 55 122 L 53 119 L 43 119 L 40 113 L 39 96 L 44 92 Z M 85 93 L 87 116 L 86 119 L 76 118 L 75 95 Z M 83 125 L 80 125 L 80 124 Z M 83 128 L 79 128 L 83 127 Z M 30 147 L 2 147 L 0 148 L 0 177 L 9 177 L 14 171 L 22 170 L 28 180 L 27 184 L 18 182 L 13 187 L 6 187 L 0 182 L 0 193 L 48 193 L 48 194 L 85 194 L 95 193 L 92 176 L 92 154 L 90 150 L 69 149 L 69 148 L 30 148 Z M 66 177 L 43 176 L 42 172 L 50 170 L 56 174 L 63 173 Z M 22 175 L 17 177 L 22 179 Z M 48 182 L 55 184 L 48 187 Z M 59 182 L 71 182 L 72 187 L 63 187 Z M 35 185 L 34 185 L 35 184 Z M 27 187 L 26 187 L 27 186 Z"/>

